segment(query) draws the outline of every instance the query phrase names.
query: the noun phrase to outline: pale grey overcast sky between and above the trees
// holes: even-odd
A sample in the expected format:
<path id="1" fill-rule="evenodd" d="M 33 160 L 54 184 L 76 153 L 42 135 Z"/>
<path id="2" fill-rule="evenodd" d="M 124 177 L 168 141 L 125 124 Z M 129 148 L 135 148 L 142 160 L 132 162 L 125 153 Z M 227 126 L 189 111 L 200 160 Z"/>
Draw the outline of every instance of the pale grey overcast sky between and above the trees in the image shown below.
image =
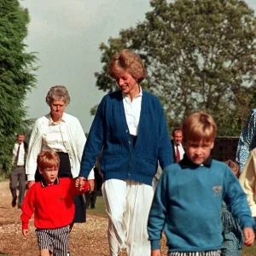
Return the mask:
<path id="1" fill-rule="evenodd" d="M 256 0 L 246 1 L 256 11 Z M 45 96 L 51 86 L 67 87 L 71 102 L 66 112 L 90 130 L 90 108 L 105 92 L 96 87 L 95 72 L 102 70 L 99 45 L 136 26 L 151 10 L 149 0 L 20 0 L 31 22 L 25 43 L 37 52 L 37 87 L 27 95 L 27 118 L 49 113 Z"/>

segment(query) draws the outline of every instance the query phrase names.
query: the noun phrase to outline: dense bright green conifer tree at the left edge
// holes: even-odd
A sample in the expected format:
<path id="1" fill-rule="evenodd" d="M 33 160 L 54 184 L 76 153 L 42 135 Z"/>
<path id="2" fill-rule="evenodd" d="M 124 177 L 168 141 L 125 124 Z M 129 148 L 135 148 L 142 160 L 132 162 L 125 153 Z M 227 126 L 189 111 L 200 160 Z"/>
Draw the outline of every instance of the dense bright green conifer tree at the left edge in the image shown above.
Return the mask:
<path id="1" fill-rule="evenodd" d="M 29 15 L 17 0 L 0 0 L 0 173 L 8 172 L 15 135 L 23 129 L 26 93 L 36 83 L 34 53 L 26 52 Z M 2 173 L 3 174 L 3 173 Z"/>

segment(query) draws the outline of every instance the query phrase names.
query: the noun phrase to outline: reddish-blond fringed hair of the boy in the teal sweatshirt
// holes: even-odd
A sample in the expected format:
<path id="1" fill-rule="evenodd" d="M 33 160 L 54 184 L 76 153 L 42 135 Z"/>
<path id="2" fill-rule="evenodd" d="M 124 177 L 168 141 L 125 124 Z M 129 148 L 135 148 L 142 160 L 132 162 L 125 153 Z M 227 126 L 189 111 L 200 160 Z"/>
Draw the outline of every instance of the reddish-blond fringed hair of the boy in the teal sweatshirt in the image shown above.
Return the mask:
<path id="1" fill-rule="evenodd" d="M 183 142 L 213 142 L 217 125 L 207 113 L 192 113 L 182 125 Z"/>

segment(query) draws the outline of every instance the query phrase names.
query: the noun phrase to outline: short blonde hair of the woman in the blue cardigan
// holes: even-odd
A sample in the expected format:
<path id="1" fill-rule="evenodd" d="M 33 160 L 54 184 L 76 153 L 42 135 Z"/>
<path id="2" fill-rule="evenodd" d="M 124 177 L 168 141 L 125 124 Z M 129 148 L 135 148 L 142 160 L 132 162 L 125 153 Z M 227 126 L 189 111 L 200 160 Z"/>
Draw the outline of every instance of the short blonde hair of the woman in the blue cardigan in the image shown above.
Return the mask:
<path id="1" fill-rule="evenodd" d="M 143 61 L 139 55 L 129 49 L 123 49 L 119 55 L 113 55 L 113 59 L 108 66 L 108 75 L 113 79 L 117 79 L 119 73 L 123 71 L 130 73 L 131 76 L 137 79 L 138 83 L 147 78 Z"/>

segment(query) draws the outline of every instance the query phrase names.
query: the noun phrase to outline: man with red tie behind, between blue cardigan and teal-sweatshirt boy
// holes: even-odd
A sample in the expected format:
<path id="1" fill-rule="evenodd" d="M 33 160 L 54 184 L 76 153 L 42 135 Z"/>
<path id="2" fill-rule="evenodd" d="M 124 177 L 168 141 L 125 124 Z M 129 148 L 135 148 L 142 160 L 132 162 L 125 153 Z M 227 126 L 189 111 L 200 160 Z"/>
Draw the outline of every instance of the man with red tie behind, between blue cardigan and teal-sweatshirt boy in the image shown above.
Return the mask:
<path id="1" fill-rule="evenodd" d="M 178 163 L 180 160 L 183 160 L 183 154 L 185 153 L 183 148 L 183 131 L 181 129 L 174 129 L 172 131 L 172 153 L 173 160 L 175 163 Z"/>

